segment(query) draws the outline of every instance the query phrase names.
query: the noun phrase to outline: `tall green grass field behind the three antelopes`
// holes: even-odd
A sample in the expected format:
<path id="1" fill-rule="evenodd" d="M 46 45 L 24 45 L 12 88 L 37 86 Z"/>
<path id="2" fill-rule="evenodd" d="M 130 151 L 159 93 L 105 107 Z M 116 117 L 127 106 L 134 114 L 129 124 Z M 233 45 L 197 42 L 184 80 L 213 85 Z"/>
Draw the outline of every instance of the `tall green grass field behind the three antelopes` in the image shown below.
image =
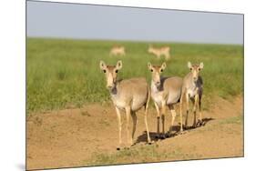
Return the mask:
<path id="1" fill-rule="evenodd" d="M 110 57 L 112 45 L 125 45 L 127 55 Z M 204 63 L 204 101 L 212 96 L 229 99 L 243 92 L 243 46 L 155 43 L 169 45 L 171 59 L 163 75 L 185 76 L 187 62 Z M 67 39 L 27 38 L 26 45 L 26 109 L 27 114 L 68 106 L 109 101 L 105 77 L 99 61 L 116 65 L 121 59 L 119 77 L 146 76 L 150 83 L 148 62 L 161 64 L 148 54 L 148 43 L 110 42 Z"/>

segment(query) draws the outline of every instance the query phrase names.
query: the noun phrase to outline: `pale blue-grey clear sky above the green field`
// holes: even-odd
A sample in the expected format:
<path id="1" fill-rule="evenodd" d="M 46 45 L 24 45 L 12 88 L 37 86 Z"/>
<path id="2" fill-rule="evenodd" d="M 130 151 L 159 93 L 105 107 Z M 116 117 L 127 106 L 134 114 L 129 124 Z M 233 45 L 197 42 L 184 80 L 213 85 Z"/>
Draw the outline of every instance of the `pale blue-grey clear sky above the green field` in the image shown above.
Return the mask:
<path id="1" fill-rule="evenodd" d="M 26 2 L 29 37 L 243 44 L 243 15 Z"/>

